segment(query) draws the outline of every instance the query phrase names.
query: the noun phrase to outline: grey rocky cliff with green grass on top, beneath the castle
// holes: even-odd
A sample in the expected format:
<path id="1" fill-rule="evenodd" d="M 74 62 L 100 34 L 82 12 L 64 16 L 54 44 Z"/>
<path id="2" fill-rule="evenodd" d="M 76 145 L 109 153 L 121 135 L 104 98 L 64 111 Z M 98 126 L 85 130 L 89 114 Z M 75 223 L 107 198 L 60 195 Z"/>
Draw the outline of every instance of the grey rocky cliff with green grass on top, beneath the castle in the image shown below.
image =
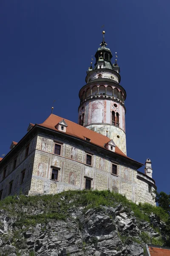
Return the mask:
<path id="1" fill-rule="evenodd" d="M 109 191 L 8 197 L 0 202 L 2 256 L 142 256 L 165 245 L 168 215 Z"/>

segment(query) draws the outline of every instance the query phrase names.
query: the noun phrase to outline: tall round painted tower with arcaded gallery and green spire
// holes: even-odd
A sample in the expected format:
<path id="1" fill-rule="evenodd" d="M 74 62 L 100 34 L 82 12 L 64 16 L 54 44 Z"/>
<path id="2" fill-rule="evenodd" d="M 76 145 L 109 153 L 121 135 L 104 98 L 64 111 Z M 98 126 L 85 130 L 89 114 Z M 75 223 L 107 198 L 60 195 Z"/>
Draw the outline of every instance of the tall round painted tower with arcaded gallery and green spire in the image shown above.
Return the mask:
<path id="1" fill-rule="evenodd" d="M 112 53 L 104 39 L 98 48 L 94 68 L 88 68 L 86 84 L 79 91 L 79 125 L 108 136 L 126 154 L 125 89 L 120 68 L 111 63 Z"/>

